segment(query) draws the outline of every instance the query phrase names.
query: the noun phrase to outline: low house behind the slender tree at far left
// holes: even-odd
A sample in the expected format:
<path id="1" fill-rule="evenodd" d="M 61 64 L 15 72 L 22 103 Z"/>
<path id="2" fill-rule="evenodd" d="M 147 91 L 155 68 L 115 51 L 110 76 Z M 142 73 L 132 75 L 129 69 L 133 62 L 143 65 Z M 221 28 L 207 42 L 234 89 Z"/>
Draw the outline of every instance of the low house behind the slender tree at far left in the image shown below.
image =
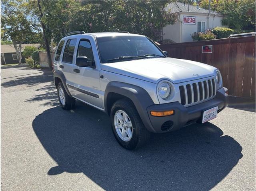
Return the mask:
<path id="1" fill-rule="evenodd" d="M 21 52 L 26 46 L 34 46 L 40 48 L 40 44 L 22 44 Z M 25 63 L 25 58 L 21 56 L 21 62 Z M 13 44 L 1 44 L 1 65 L 3 64 L 18 64 L 18 57 Z"/>

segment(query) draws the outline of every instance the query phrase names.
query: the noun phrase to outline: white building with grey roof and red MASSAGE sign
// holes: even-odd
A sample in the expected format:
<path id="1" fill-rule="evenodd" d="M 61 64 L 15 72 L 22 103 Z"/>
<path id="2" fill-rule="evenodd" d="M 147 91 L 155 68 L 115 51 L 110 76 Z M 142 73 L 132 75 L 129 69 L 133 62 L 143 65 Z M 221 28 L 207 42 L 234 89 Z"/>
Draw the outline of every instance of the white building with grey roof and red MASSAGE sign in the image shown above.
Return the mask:
<path id="1" fill-rule="evenodd" d="M 191 34 L 194 32 L 204 32 L 209 28 L 226 27 L 221 21 L 224 17 L 217 12 L 199 8 L 180 2 L 168 4 L 167 10 L 171 10 L 171 14 L 178 14 L 178 21 L 174 25 L 168 25 L 163 28 L 163 42 L 191 42 Z"/>

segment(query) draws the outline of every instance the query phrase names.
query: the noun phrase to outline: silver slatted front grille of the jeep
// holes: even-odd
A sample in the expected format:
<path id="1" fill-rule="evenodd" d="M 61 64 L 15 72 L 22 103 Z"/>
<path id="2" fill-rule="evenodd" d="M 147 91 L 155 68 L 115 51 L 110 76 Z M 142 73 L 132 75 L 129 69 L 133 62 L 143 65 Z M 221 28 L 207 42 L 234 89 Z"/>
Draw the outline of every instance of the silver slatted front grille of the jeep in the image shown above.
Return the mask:
<path id="1" fill-rule="evenodd" d="M 216 83 L 214 78 L 200 82 L 183 84 L 180 89 L 180 103 L 184 106 L 194 105 L 216 96 Z"/>

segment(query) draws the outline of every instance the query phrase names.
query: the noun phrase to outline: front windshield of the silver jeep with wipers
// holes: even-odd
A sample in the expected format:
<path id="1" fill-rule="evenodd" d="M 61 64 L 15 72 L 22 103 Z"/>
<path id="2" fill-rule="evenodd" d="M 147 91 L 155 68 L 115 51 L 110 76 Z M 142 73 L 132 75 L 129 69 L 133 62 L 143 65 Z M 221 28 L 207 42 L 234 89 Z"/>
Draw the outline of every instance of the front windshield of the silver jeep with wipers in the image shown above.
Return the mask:
<path id="1" fill-rule="evenodd" d="M 166 57 L 144 36 L 98 37 L 97 44 L 101 63 Z"/>

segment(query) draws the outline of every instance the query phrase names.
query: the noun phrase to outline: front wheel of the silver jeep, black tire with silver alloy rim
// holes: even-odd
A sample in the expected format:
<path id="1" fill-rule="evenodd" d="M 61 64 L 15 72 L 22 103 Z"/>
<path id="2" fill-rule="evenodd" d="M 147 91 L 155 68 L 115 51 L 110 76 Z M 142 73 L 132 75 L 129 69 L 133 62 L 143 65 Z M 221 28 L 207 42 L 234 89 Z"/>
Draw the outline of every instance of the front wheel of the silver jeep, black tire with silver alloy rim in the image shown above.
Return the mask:
<path id="1" fill-rule="evenodd" d="M 118 143 L 125 149 L 137 149 L 150 138 L 137 109 L 129 99 L 116 101 L 110 112 L 112 131 Z"/>

